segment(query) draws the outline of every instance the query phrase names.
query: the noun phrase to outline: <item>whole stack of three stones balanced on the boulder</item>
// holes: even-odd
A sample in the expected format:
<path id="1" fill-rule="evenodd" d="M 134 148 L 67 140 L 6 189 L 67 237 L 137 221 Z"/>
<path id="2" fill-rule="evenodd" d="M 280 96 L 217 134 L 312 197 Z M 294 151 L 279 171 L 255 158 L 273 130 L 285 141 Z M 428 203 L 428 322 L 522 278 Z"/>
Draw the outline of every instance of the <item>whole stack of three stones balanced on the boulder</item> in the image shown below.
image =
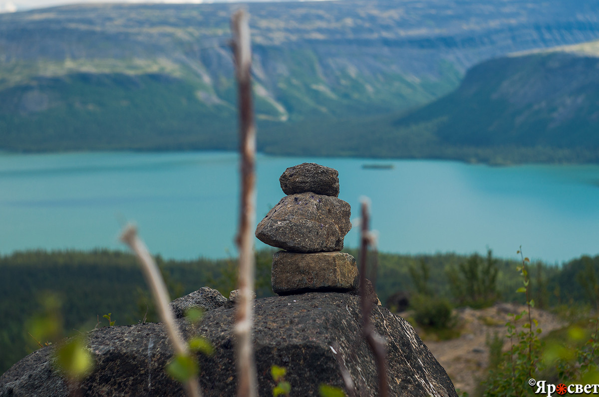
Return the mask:
<path id="1" fill-rule="evenodd" d="M 273 256 L 275 293 L 358 288 L 356 260 L 340 252 L 352 223 L 350 205 L 337 198 L 338 174 L 329 167 L 303 163 L 286 169 L 279 178 L 287 196 L 256 228 L 259 240 L 285 250 Z"/>

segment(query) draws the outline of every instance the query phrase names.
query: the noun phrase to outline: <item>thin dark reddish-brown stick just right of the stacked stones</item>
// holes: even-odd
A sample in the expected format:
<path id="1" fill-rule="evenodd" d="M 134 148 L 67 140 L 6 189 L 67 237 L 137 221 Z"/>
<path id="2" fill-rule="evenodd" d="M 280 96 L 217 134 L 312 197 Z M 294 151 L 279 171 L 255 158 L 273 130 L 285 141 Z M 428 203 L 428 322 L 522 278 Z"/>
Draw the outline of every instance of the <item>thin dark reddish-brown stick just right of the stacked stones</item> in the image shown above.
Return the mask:
<path id="1" fill-rule="evenodd" d="M 362 337 L 367 341 L 370 350 L 373 351 L 374 360 L 376 361 L 377 372 L 379 374 L 379 396 L 388 397 L 388 380 L 386 366 L 386 348 L 385 340 L 374 331 L 373 325 L 370 322 L 370 311 L 372 310 L 372 302 L 366 296 L 366 259 L 368 245 L 371 237 L 368 232 L 368 222 L 370 222 L 370 214 L 368 213 L 368 202 L 362 201 L 362 216 L 360 222 L 360 298 L 362 302 Z"/>

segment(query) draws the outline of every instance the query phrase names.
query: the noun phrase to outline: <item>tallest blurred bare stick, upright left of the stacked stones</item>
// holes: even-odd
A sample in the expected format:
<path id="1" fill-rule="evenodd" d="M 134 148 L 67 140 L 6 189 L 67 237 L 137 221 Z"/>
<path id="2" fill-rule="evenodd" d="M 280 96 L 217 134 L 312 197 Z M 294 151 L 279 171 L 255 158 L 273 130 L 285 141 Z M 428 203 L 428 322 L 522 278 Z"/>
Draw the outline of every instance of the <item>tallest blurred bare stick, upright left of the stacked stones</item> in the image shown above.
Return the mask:
<path id="1" fill-rule="evenodd" d="M 239 250 L 238 289 L 235 311 L 235 362 L 237 365 L 237 396 L 256 397 L 256 364 L 252 347 L 252 292 L 254 289 L 255 258 L 253 253 L 253 225 L 255 222 L 255 156 L 256 128 L 253 120 L 252 78 L 250 67 L 249 16 L 238 10 L 231 18 L 233 52 L 238 87 L 241 153 L 241 208 L 237 247 Z"/>

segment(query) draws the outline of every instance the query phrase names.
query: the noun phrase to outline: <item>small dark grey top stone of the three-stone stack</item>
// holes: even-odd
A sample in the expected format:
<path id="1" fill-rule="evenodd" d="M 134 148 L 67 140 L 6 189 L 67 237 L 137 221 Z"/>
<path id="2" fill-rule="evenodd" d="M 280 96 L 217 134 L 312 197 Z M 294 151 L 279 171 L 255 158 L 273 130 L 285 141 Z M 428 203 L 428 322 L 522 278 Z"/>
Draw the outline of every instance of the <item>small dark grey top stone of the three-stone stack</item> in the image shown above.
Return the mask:
<path id="1" fill-rule="evenodd" d="M 312 192 L 317 195 L 339 195 L 339 172 L 337 169 L 316 163 L 303 163 L 289 167 L 279 178 L 286 195 Z"/>

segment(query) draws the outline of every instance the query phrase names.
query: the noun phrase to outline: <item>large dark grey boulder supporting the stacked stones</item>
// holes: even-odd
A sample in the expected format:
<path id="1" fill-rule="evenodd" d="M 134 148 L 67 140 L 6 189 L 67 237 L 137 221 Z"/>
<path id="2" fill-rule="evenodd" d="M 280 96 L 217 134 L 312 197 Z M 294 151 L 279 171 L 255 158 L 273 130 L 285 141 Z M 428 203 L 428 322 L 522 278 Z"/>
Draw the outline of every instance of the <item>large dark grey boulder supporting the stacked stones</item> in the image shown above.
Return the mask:
<path id="1" fill-rule="evenodd" d="M 210 340 L 213 356 L 198 355 L 204 396 L 234 396 L 234 308 L 207 311 L 198 325 L 178 319 L 185 337 Z M 374 357 L 360 338 L 359 297 L 349 293 L 304 293 L 254 302 L 253 339 L 258 395 L 272 395 L 272 365 L 287 368 L 294 396 L 317 396 L 319 384 L 343 387 L 343 361 L 358 394 L 376 396 Z M 452 381 L 412 326 L 386 308 L 373 310 L 374 328 L 387 341 L 389 395 L 457 397 Z M 78 392 L 85 396 L 183 396 L 183 388 L 165 374 L 173 356 L 161 324 L 113 326 L 87 335 L 95 357 L 92 374 Z M 341 357 L 338 357 L 340 354 Z M 69 389 L 52 366 L 52 346 L 30 354 L 0 377 L 0 396 L 68 396 Z"/>

